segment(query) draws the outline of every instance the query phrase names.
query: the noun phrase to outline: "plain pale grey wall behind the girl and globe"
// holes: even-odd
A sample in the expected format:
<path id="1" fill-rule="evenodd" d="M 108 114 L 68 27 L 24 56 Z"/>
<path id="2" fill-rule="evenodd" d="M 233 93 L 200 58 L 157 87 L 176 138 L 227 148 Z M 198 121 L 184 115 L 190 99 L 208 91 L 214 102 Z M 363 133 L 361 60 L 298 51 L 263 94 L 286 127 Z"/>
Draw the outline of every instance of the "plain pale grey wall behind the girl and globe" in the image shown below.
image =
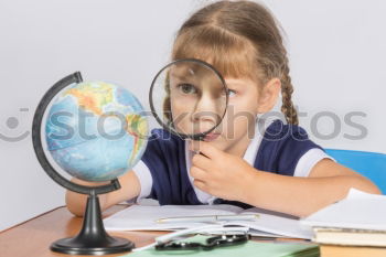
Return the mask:
<path id="1" fill-rule="evenodd" d="M 148 107 L 152 76 L 169 60 L 183 20 L 210 1 L 0 0 L 0 132 L 14 138 L 31 131 L 34 109 L 57 79 L 82 71 L 86 81 L 130 89 Z M 386 2 L 380 0 L 267 0 L 287 32 L 294 103 L 311 131 L 318 113 L 334 113 L 310 132 L 325 148 L 386 152 Z M 21 110 L 26 108 L 28 110 Z M 351 111 L 365 137 L 344 122 Z M 0 231 L 64 204 L 64 190 L 42 171 L 31 136 L 0 139 Z"/>

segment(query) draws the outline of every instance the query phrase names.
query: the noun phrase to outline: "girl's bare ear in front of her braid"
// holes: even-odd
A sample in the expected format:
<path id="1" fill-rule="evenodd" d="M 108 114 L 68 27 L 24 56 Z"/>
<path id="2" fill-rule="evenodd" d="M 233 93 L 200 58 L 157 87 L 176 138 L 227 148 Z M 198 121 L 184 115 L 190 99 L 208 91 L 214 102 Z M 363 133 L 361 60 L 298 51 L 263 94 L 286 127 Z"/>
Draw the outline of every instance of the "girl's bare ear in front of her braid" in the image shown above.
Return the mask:
<path id="1" fill-rule="evenodd" d="M 258 114 L 265 114 L 270 111 L 276 105 L 279 94 L 281 92 L 281 82 L 279 78 L 274 77 L 260 90 L 258 98 Z"/>

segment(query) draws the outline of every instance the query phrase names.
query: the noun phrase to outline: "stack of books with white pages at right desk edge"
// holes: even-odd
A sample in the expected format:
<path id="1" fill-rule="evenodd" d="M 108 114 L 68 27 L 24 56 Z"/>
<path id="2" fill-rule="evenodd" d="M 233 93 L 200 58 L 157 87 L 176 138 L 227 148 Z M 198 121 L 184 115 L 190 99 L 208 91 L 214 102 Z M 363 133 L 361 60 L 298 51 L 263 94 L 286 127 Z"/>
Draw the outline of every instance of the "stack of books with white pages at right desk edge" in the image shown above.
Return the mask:
<path id="1" fill-rule="evenodd" d="M 386 195 L 352 189 L 349 195 L 301 219 L 321 244 L 321 256 L 386 256 Z"/>

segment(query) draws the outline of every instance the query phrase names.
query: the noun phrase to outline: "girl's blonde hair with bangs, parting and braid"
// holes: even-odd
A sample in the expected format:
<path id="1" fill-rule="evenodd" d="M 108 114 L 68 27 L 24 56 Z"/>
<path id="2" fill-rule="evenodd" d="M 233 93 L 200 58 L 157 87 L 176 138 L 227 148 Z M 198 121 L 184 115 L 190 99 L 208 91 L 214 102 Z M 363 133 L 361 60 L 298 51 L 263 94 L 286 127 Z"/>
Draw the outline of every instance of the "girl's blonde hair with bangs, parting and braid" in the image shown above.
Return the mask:
<path id="1" fill-rule="evenodd" d="M 279 25 L 261 4 L 249 1 L 218 1 L 187 19 L 179 30 L 172 60 L 200 58 L 223 76 L 247 76 L 264 85 L 281 81 L 281 111 L 287 122 L 298 125 L 291 95 L 289 61 Z M 169 99 L 164 103 L 168 107 Z"/>

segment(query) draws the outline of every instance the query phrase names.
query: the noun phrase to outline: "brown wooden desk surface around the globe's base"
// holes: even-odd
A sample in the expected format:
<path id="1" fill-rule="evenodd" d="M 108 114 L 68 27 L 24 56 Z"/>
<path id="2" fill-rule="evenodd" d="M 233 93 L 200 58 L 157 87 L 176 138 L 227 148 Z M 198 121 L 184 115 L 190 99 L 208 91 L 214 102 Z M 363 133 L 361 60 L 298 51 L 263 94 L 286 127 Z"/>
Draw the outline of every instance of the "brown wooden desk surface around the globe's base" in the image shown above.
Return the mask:
<path id="1" fill-rule="evenodd" d="M 128 205 L 116 205 L 104 212 L 107 217 Z M 50 250 L 53 242 L 72 237 L 79 232 L 83 218 L 74 217 L 66 207 L 57 207 L 37 217 L 0 233 L 0 257 L 52 257 L 68 256 Z M 153 243 L 164 232 L 118 232 L 109 233 L 132 240 L 136 247 Z M 121 256 L 121 254 L 105 256 Z M 83 255 L 84 256 L 84 255 Z"/>

